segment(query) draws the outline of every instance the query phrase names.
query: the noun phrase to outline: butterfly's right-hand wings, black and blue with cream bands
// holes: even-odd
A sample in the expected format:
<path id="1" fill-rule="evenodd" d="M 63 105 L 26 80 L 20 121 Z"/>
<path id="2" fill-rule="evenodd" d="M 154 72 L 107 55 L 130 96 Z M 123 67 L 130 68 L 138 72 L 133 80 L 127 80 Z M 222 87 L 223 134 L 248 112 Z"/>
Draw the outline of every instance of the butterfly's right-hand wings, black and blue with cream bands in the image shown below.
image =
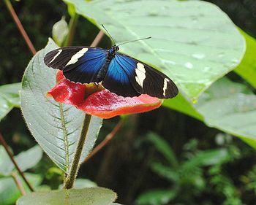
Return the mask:
<path id="1" fill-rule="evenodd" d="M 173 98 L 178 88 L 160 71 L 127 55 L 116 53 L 102 82 L 108 90 L 120 96 L 139 96 L 141 93 L 157 98 Z"/>

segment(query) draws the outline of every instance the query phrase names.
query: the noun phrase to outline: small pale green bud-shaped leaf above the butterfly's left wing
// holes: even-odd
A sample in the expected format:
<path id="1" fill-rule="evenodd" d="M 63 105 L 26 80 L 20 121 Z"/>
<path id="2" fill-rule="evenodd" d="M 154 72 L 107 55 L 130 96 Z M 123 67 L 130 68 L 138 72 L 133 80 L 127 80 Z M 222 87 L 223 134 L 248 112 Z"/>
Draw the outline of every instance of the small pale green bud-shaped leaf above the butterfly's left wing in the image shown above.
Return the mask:
<path id="1" fill-rule="evenodd" d="M 64 17 L 53 25 L 53 40 L 61 46 L 69 33 L 69 26 Z"/>

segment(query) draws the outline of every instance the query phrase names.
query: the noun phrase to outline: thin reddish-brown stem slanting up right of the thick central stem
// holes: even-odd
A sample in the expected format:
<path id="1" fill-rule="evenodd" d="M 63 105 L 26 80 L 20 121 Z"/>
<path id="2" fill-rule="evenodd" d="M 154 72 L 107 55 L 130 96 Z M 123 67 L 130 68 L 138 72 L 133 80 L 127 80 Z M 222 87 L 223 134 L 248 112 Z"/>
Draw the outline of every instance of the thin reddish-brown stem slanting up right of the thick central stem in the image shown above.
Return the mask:
<path id="1" fill-rule="evenodd" d="M 120 130 L 120 128 L 122 127 L 122 125 L 124 125 L 124 120 L 119 120 L 119 122 L 116 124 L 116 127 L 113 128 L 113 131 L 110 132 L 110 134 L 108 134 L 105 139 L 100 142 L 97 147 L 94 148 L 94 150 L 91 151 L 91 153 L 87 156 L 87 158 L 85 158 L 85 160 L 83 160 L 83 163 L 85 163 L 86 161 L 88 161 L 91 157 L 93 157 L 97 152 L 99 152 L 99 150 L 102 150 L 103 147 L 105 147 L 108 142 L 110 142 L 111 139 L 113 139 L 113 137 L 116 135 L 116 133 Z"/>

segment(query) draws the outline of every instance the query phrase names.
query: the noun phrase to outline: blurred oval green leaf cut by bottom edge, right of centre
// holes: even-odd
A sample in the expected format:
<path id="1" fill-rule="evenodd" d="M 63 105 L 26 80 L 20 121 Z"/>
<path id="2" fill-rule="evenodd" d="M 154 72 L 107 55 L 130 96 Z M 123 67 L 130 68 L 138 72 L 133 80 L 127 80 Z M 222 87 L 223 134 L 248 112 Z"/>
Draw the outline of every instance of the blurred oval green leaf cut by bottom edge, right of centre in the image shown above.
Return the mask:
<path id="1" fill-rule="evenodd" d="M 167 204 L 176 197 L 176 189 L 150 190 L 139 196 L 136 201 L 138 205 L 162 205 Z"/>

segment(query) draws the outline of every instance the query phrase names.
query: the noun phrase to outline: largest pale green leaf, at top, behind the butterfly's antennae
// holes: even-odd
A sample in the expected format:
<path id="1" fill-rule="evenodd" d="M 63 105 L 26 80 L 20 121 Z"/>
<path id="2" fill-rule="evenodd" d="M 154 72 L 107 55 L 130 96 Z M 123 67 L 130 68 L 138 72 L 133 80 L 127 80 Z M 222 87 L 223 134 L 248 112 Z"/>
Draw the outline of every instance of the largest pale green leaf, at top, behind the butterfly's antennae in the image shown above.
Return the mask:
<path id="1" fill-rule="evenodd" d="M 244 55 L 236 26 L 205 1 L 64 1 L 99 28 L 103 23 L 117 42 L 152 36 L 122 45 L 121 52 L 162 70 L 188 98 L 197 98 Z"/>

